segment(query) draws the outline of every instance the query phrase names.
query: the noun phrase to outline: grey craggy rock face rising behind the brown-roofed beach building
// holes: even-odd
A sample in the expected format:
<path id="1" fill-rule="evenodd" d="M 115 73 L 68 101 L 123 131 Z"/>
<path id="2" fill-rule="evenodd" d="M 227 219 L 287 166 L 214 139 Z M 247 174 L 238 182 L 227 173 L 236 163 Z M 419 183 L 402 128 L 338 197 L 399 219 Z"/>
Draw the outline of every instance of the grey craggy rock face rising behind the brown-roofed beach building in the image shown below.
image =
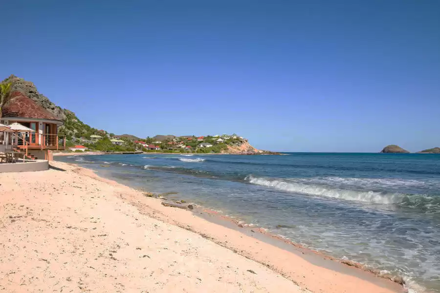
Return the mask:
<path id="1" fill-rule="evenodd" d="M 48 110 L 61 120 L 66 118 L 65 109 L 55 105 L 47 97 L 40 94 L 34 83 L 27 82 L 13 74 L 6 78 L 3 83 L 12 83 L 12 91 L 22 92 L 23 95 L 36 102 L 38 105 L 43 106 L 44 109 Z"/>

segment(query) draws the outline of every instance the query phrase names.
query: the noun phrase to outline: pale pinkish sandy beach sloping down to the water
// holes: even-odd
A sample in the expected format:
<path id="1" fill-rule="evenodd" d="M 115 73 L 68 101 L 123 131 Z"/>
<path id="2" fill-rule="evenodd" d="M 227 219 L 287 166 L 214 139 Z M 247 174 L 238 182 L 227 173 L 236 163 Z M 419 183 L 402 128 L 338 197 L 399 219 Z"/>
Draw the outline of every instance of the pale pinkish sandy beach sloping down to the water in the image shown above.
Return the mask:
<path id="1" fill-rule="evenodd" d="M 164 207 L 91 170 L 50 164 L 0 174 L 4 292 L 404 292 L 208 212 Z"/>

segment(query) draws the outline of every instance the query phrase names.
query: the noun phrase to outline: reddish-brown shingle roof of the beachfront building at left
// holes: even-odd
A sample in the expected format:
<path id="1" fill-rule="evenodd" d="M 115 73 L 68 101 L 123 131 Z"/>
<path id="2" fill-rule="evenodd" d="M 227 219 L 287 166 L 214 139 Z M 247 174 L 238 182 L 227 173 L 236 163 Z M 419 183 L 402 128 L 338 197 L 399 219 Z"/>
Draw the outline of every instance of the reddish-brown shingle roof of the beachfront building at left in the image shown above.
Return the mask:
<path id="1" fill-rule="evenodd" d="M 39 118 L 61 121 L 60 118 L 26 97 L 22 92 L 12 92 L 11 96 L 12 99 L 2 109 L 3 117 Z"/>

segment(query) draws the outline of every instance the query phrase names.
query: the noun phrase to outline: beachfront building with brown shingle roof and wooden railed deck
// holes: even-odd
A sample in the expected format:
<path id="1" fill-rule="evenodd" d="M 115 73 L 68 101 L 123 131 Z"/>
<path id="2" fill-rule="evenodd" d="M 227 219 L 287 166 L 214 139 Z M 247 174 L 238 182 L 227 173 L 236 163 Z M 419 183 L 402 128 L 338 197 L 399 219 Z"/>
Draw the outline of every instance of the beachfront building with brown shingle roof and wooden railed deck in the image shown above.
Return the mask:
<path id="1" fill-rule="evenodd" d="M 28 159 L 49 159 L 50 150 L 65 150 L 66 137 L 58 135 L 63 120 L 38 105 L 22 92 L 11 93 L 11 99 L 2 108 L 1 124 L 18 123 L 34 131 L 1 132 L 0 152 L 19 151 Z"/>

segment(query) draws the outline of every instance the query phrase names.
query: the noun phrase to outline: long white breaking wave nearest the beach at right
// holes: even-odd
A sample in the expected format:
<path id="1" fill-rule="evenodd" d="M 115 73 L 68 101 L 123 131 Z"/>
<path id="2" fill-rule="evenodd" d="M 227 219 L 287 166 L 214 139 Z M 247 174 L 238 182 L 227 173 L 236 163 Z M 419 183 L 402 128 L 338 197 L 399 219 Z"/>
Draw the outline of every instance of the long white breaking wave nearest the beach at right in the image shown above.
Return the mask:
<path id="1" fill-rule="evenodd" d="M 294 180 L 282 180 L 264 177 L 254 177 L 249 175 L 245 181 L 271 188 L 277 188 L 289 192 L 297 192 L 302 194 L 337 198 L 348 201 L 360 201 L 373 204 L 401 204 L 412 207 L 426 207 L 440 209 L 440 199 L 438 197 L 431 197 L 423 194 L 402 194 L 402 193 L 383 193 L 376 191 L 362 191 L 342 188 L 329 188 L 320 185 L 310 185 Z"/>

